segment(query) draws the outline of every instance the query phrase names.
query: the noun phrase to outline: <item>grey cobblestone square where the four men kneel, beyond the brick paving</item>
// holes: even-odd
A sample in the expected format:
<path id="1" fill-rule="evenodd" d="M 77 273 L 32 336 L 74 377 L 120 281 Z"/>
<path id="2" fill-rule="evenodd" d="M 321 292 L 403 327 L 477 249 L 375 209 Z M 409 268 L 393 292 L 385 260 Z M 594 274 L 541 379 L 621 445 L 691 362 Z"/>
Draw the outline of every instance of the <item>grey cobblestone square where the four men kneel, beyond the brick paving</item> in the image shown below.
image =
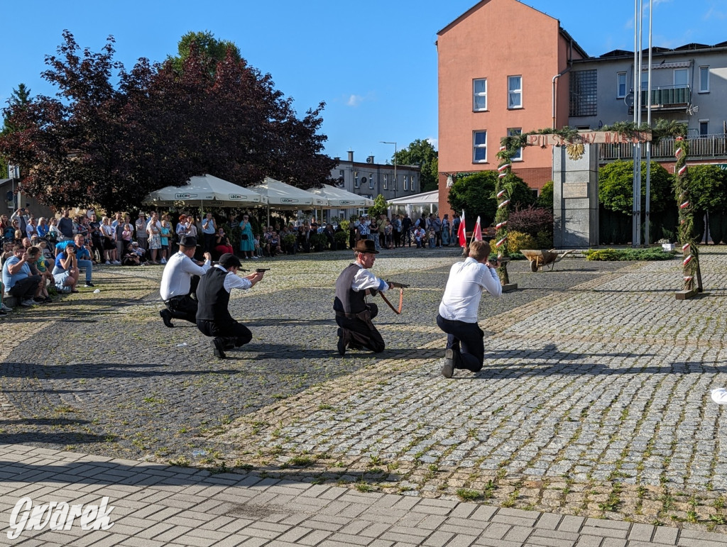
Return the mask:
<path id="1" fill-rule="evenodd" d="M 705 293 L 688 301 L 674 297 L 677 261 L 512 262 L 518 290 L 482 301 L 485 368 L 450 380 L 433 319 L 457 256 L 428 254 L 377 259 L 412 285 L 400 317 L 379 300 L 379 356 L 335 352 L 346 254 L 256 262 L 272 270 L 231 301 L 254 339 L 227 360 L 192 325 L 164 328 L 160 269 L 102 269 L 101 293 L 0 322 L 15 333 L 0 349 L 0 442 L 727 531 L 723 408 L 709 397 L 727 384 L 720 251 L 702 249 Z"/>

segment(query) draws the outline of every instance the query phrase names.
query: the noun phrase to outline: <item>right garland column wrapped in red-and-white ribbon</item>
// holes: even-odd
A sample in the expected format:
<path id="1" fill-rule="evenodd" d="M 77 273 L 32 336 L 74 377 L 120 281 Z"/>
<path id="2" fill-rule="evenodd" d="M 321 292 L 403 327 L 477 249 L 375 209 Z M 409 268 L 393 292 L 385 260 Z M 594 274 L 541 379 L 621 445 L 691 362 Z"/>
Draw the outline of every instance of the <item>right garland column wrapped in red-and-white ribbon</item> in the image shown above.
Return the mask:
<path id="1" fill-rule="evenodd" d="M 675 138 L 674 166 L 675 194 L 679 206 L 679 242 L 682 246 L 684 268 L 684 291 L 702 291 L 702 276 L 699 272 L 699 247 L 694 240 L 694 203 L 689 195 L 686 158 L 689 154 L 689 142 L 683 136 Z"/>

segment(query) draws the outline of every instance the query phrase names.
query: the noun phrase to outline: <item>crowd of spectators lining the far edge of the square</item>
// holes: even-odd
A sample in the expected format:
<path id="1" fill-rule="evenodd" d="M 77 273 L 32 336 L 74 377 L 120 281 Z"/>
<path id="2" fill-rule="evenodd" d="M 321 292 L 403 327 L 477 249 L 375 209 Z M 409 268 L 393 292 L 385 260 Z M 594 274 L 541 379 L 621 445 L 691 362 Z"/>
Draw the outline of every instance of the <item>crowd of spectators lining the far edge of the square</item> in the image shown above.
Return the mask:
<path id="1" fill-rule="evenodd" d="M 156 211 L 149 215 L 142 211 L 134 220 L 121 212 L 99 218 L 93 209 L 80 213 L 65 209 L 58 216 L 36 218 L 28 208 L 18 208 L 9 217 L 0 215 L 1 290 L 23 307 L 49 302 L 50 286 L 58 293 L 78 292 L 81 272 L 82 286 L 93 288 L 93 270 L 99 264 L 166 264 L 177 250 L 174 242 L 185 235 L 203 243 L 200 255 L 234 253 L 255 260 L 321 248 L 337 250 L 347 244 L 353 248 L 361 239 L 373 240 L 377 249 L 449 246 L 456 244 L 457 224 L 457 215 L 450 221 L 446 214 L 443 219 L 424 214 L 412 222 L 407 214 L 390 218 L 363 214 L 350 222 L 348 234 L 341 235 L 340 225 L 318 225 L 316 219 L 297 226 L 276 222 L 258 227 L 248 214 L 215 218 L 212 213 L 204 217 L 182 213 L 174 224 L 169 214 Z M 235 238 L 226 231 L 230 229 Z M 0 304 L 0 315 L 7 309 Z"/>

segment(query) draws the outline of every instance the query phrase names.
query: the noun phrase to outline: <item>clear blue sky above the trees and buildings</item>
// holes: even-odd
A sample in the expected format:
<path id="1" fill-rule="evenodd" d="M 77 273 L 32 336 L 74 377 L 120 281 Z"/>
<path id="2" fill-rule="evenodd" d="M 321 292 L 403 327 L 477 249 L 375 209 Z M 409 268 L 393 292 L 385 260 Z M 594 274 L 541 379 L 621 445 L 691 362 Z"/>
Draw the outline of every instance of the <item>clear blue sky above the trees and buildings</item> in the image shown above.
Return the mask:
<path id="1" fill-rule="evenodd" d="M 243 57 L 270 73 L 293 97 L 299 115 L 326 102 L 326 153 L 384 163 L 414 139 L 437 137 L 437 31 L 475 0 L 25 0 L 3 7 L 0 105 L 23 82 L 34 94 L 54 94 L 40 78 L 68 29 L 98 52 L 116 39 L 116 60 L 161 61 L 176 54 L 188 31 L 234 41 Z M 523 1 L 561 21 L 585 51 L 598 56 L 633 48 L 633 0 Z M 648 7 L 648 0 L 643 4 Z M 648 13 L 645 18 L 648 24 Z M 727 1 L 654 0 L 654 46 L 727 41 Z M 496 31 L 497 29 L 493 29 Z M 516 34 L 503 39 L 518 39 Z M 644 42 L 646 44 L 646 41 Z"/>

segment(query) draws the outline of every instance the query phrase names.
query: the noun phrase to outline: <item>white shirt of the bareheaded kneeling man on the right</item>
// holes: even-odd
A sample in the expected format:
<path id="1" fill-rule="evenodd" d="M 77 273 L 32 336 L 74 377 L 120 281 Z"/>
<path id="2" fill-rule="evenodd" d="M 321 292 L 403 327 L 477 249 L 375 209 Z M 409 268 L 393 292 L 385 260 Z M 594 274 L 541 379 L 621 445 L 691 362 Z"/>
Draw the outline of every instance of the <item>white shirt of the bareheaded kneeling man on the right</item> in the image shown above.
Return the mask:
<path id="1" fill-rule="evenodd" d="M 467 256 L 465 262 L 457 262 L 449 270 L 439 315 L 450 321 L 477 323 L 483 289 L 492 296 L 502 295 L 497 272 Z"/>

